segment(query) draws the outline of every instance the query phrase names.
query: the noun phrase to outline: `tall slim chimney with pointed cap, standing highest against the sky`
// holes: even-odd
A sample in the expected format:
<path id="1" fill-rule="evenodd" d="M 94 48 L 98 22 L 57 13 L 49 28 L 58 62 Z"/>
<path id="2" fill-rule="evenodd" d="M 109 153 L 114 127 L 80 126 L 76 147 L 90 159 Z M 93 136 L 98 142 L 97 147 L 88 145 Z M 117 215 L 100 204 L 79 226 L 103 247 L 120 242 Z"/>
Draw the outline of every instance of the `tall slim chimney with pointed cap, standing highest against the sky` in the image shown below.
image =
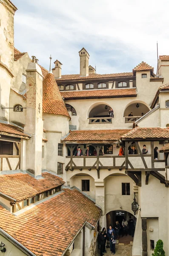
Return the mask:
<path id="1" fill-rule="evenodd" d="M 89 53 L 83 47 L 79 51 L 80 56 L 80 76 L 89 76 Z"/>

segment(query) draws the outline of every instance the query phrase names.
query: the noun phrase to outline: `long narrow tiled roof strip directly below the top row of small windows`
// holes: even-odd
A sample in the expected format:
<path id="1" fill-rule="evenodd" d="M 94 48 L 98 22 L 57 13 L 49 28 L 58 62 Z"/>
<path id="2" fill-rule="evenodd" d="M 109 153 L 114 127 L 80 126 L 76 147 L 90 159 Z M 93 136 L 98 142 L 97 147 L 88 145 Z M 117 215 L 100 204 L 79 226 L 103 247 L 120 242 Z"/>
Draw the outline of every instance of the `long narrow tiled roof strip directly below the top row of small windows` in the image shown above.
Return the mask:
<path id="1" fill-rule="evenodd" d="M 77 91 L 66 91 L 60 92 L 63 98 L 117 98 L 117 97 L 136 97 L 137 91 L 135 88 L 131 89 L 103 89 L 103 90 L 77 90 Z"/>

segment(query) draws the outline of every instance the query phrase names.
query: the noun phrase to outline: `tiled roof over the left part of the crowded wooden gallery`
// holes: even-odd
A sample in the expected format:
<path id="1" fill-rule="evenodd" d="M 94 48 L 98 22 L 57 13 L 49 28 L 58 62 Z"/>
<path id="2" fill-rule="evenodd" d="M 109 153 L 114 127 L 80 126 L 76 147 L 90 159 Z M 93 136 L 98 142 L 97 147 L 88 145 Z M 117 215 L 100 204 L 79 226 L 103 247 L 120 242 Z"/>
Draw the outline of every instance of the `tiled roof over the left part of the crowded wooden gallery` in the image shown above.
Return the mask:
<path id="1" fill-rule="evenodd" d="M 126 134 L 130 129 L 115 129 L 115 130 L 75 130 L 70 131 L 68 137 L 63 139 L 63 142 L 80 141 L 85 143 L 103 142 L 120 140 L 123 134 Z"/>

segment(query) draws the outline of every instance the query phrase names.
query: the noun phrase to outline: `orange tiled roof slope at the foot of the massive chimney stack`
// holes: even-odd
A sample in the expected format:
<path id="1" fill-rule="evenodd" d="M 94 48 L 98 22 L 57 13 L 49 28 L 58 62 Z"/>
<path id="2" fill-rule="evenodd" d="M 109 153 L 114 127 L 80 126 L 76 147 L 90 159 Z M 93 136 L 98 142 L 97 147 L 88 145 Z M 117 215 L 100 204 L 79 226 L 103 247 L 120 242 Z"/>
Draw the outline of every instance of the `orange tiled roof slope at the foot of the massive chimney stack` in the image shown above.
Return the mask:
<path id="1" fill-rule="evenodd" d="M 44 179 L 37 180 L 25 173 L 0 175 L 0 192 L 22 201 L 65 183 L 62 178 L 49 172 L 43 172 L 42 177 Z"/>

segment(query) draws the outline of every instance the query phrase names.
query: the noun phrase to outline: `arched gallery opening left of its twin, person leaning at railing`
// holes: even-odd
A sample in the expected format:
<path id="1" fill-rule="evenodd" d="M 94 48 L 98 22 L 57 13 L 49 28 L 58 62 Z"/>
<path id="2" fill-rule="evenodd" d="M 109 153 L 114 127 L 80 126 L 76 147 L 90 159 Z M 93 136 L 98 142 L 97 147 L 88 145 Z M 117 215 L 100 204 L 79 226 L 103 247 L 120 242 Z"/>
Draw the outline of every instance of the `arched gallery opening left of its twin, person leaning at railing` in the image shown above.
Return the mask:
<path id="1" fill-rule="evenodd" d="M 110 123 L 114 118 L 113 109 L 106 104 L 100 104 L 89 112 L 89 123 Z"/>

